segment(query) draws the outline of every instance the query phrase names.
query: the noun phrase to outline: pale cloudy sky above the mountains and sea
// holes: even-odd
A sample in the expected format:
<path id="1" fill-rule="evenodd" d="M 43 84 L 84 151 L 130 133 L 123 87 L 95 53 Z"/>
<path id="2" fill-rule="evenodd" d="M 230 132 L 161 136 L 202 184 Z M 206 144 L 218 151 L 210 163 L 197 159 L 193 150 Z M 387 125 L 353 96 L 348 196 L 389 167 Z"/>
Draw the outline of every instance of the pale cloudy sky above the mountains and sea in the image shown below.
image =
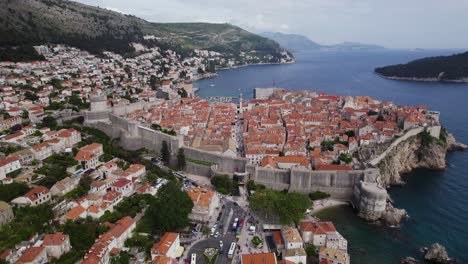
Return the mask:
<path id="1" fill-rule="evenodd" d="M 77 0 L 153 22 L 231 23 L 321 44 L 468 48 L 468 0 Z"/>

